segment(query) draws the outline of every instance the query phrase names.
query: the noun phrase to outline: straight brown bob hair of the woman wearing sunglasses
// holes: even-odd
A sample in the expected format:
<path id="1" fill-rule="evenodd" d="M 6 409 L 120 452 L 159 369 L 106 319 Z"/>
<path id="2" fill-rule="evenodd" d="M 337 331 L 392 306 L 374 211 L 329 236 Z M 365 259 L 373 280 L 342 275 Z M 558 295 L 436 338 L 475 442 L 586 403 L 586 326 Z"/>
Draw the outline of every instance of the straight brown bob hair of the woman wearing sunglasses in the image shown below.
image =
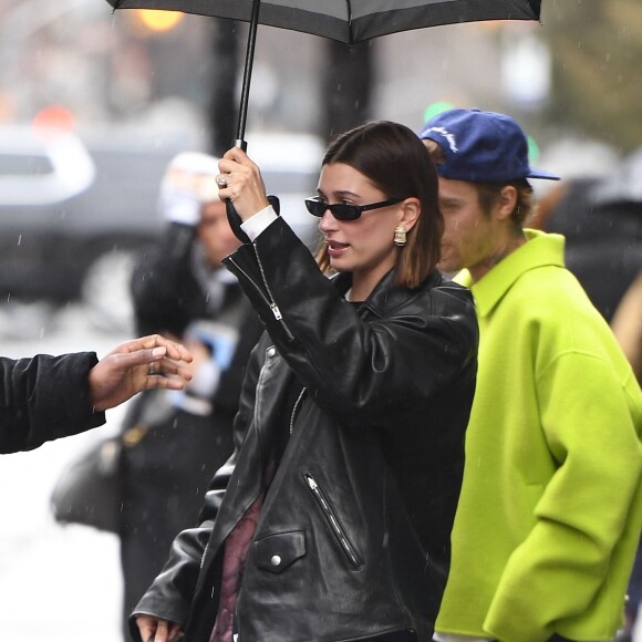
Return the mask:
<path id="1" fill-rule="evenodd" d="M 444 219 L 437 200 L 437 174 L 417 135 L 398 123 L 377 121 L 341 134 L 328 147 L 323 165 L 344 163 L 366 176 L 386 198 L 420 200 L 421 214 L 407 232 L 396 259 L 396 282 L 416 288 L 441 258 Z M 392 239 L 391 239 L 392 244 Z M 328 247 L 320 245 L 317 262 L 330 271 Z"/>

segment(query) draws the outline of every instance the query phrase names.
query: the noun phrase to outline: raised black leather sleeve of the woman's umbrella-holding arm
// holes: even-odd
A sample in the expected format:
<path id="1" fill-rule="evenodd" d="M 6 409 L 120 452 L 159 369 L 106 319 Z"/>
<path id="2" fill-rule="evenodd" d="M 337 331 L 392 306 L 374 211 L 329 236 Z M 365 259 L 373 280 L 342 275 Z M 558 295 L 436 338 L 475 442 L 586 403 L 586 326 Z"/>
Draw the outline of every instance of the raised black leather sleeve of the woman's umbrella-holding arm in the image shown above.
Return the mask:
<path id="1" fill-rule="evenodd" d="M 391 288 L 384 315 L 366 301 L 363 321 L 281 218 L 225 262 L 317 405 L 343 425 L 397 416 L 472 372 L 477 321 L 463 288 L 397 299 Z"/>

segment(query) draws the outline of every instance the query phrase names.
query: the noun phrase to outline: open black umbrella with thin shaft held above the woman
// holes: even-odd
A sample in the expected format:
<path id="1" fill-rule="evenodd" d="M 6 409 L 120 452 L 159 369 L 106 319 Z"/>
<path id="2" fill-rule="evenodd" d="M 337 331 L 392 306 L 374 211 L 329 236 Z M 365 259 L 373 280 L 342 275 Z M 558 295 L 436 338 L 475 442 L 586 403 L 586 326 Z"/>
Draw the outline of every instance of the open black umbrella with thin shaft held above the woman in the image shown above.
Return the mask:
<path id="1" fill-rule="evenodd" d="M 483 20 L 539 20 L 541 0 L 107 0 L 114 9 L 163 9 L 250 23 L 237 141 L 245 126 L 257 25 L 346 44 L 424 27 Z"/>

